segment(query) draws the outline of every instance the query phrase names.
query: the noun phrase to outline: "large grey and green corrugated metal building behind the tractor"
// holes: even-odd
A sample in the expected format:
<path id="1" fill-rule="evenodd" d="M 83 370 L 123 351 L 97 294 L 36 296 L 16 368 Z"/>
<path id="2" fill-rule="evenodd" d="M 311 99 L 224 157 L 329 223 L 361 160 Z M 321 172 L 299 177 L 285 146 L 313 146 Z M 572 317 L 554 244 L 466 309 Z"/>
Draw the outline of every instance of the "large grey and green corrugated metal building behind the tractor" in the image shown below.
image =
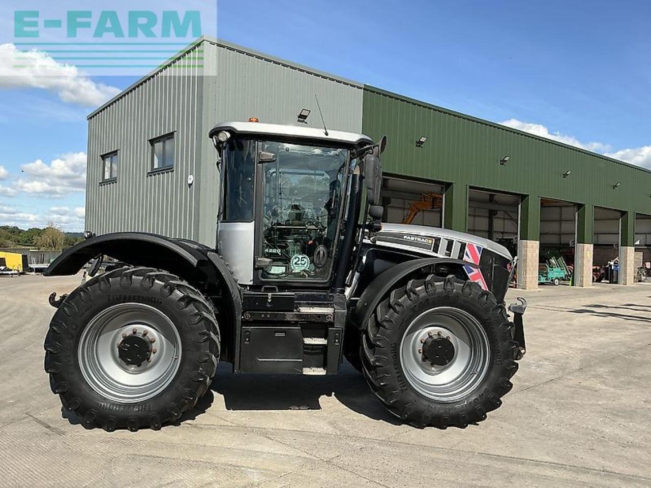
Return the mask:
<path id="1" fill-rule="evenodd" d="M 168 69 L 199 52 L 201 68 Z M 251 116 L 296 123 L 303 108 L 317 113 L 314 94 L 329 128 L 388 135 L 387 221 L 400 221 L 420 195 L 441 193 L 443 208 L 414 223 L 512 239 L 523 288 L 536 286 L 541 244 L 574 254 L 579 286 L 591 282 L 593 254 L 618 257 L 619 281 L 631 282 L 651 236 L 644 218 L 651 215 L 651 172 L 213 38 L 201 38 L 89 116 L 87 228 L 214 245 L 217 178 L 208 130 Z M 318 116 L 307 122 L 321 123 Z M 162 144 L 170 154 L 156 167 Z"/>

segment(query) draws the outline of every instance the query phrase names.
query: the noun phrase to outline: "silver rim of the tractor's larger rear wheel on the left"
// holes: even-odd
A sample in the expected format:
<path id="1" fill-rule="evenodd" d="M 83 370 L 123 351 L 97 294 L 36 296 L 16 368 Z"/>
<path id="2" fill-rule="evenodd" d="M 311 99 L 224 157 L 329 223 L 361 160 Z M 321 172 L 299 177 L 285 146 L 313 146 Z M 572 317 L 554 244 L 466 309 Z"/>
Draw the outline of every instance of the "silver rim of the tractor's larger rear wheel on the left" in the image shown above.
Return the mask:
<path id="1" fill-rule="evenodd" d="M 118 344 L 135 334 L 151 344 L 150 360 L 126 364 Z M 172 382 L 181 359 L 181 338 L 163 312 L 142 303 L 120 303 L 103 310 L 84 329 L 77 349 L 79 367 L 90 387 L 119 403 L 146 401 Z"/>

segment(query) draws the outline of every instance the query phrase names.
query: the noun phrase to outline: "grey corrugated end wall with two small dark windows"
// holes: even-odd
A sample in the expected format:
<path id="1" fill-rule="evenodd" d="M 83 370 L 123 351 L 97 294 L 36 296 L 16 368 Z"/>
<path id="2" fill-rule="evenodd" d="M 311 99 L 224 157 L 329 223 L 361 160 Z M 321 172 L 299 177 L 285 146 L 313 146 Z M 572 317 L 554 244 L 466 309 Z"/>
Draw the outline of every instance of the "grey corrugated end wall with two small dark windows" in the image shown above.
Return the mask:
<path id="1" fill-rule="evenodd" d="M 98 234 L 156 232 L 194 239 L 201 165 L 202 47 L 187 51 L 161 72 L 89 118 L 86 227 Z M 175 132 L 174 169 L 150 173 L 148 141 Z M 118 150 L 117 181 L 102 183 L 102 154 Z"/>

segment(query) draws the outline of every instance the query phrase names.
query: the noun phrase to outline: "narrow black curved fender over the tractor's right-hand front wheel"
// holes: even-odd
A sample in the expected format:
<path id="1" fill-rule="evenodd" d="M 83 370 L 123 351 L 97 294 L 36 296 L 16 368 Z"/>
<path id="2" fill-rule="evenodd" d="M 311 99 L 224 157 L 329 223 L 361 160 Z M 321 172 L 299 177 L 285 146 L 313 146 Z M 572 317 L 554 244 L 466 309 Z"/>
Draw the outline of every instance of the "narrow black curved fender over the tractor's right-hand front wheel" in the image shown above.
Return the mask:
<path id="1" fill-rule="evenodd" d="M 469 262 L 450 258 L 419 258 L 396 264 L 395 266 L 383 271 L 378 275 L 378 277 L 372 280 L 372 282 L 368 284 L 366 290 L 364 290 L 359 297 L 359 301 L 357 302 L 357 306 L 355 306 L 355 311 L 352 316 L 352 323 L 355 327 L 358 329 L 364 329 L 366 327 L 371 314 L 375 312 L 380 301 L 395 287 L 396 283 L 400 282 L 400 280 L 404 280 L 404 278 L 408 277 L 415 271 L 434 264 L 453 264 L 459 267 L 478 267 Z"/>

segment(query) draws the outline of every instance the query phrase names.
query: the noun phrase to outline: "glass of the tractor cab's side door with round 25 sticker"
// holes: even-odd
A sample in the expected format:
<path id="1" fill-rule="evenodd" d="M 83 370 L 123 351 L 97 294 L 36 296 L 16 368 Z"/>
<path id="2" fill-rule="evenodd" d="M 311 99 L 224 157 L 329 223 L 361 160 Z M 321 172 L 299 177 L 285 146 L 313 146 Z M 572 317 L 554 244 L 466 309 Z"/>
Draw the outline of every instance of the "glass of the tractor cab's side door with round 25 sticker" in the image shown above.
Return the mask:
<path id="1" fill-rule="evenodd" d="M 262 142 L 270 160 L 262 167 L 263 280 L 329 278 L 337 243 L 342 185 L 349 152 L 344 148 Z M 273 155 L 273 156 L 271 156 Z"/>

